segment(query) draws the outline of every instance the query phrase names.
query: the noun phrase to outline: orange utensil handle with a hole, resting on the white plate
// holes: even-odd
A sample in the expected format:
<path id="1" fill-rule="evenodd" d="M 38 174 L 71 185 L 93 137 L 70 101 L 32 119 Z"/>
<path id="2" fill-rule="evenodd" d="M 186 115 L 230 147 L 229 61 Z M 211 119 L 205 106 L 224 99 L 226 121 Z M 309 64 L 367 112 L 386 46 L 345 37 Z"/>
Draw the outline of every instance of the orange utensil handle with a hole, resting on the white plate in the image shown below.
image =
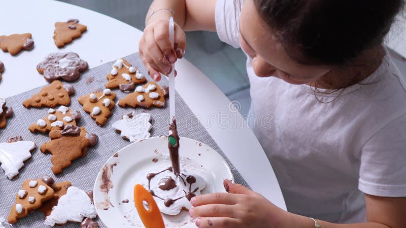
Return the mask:
<path id="1" fill-rule="evenodd" d="M 144 201 L 149 205 L 149 210 L 144 206 Z M 141 184 L 134 186 L 134 202 L 145 228 L 165 228 L 161 212 L 152 195 Z"/>

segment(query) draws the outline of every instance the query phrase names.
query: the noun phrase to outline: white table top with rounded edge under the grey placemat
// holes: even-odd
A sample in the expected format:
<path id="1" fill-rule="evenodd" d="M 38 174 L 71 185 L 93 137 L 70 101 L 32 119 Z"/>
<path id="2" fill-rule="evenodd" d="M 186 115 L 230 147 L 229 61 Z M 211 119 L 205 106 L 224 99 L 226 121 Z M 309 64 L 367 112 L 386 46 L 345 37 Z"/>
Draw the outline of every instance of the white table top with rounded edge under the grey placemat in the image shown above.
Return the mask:
<path id="1" fill-rule="evenodd" d="M 46 85 L 36 65 L 52 52 L 76 52 L 90 68 L 138 52 L 142 31 L 106 15 L 50 0 L 2 1 L 2 8 L 15 10 L 2 12 L 0 33 L 30 32 L 35 48 L 15 57 L 0 51 L 0 60 L 6 66 L 0 97 Z M 73 44 L 58 49 L 52 39 L 54 23 L 70 18 L 78 18 L 87 25 L 88 31 Z M 256 192 L 286 210 L 278 181 L 262 147 L 240 113 L 229 110 L 230 100 L 187 60 L 178 61 L 176 69 L 178 93 L 235 168 Z M 222 123 L 217 121 L 220 117 Z M 227 126 L 226 123 L 233 120 L 238 120 L 237 127 Z"/>

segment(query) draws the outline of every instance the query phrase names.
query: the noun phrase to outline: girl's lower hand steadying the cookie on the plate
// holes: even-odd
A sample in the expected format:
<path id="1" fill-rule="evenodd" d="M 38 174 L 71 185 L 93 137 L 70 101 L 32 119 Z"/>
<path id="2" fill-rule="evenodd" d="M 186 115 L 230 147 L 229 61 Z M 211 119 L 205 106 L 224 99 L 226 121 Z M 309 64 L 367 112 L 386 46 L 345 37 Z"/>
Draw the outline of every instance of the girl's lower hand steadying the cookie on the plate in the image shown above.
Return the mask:
<path id="1" fill-rule="evenodd" d="M 288 212 L 241 184 L 224 180 L 228 193 L 193 197 L 189 215 L 197 227 L 280 227 Z"/>

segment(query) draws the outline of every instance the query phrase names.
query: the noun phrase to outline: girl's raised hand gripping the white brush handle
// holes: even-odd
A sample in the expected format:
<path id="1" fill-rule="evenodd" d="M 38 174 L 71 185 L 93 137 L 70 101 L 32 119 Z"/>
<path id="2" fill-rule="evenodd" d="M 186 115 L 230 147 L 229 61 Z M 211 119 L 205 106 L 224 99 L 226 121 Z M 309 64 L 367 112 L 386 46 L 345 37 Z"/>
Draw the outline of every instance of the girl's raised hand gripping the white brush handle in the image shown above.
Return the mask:
<path id="1" fill-rule="evenodd" d="M 186 34 L 183 29 L 174 23 L 175 49 L 169 40 L 169 21 L 157 20 L 145 27 L 144 34 L 139 43 L 139 55 L 155 80 L 161 80 L 161 74 L 168 75 L 172 71 L 172 63 L 182 58 L 186 49 Z M 175 70 L 176 75 L 176 70 Z"/>

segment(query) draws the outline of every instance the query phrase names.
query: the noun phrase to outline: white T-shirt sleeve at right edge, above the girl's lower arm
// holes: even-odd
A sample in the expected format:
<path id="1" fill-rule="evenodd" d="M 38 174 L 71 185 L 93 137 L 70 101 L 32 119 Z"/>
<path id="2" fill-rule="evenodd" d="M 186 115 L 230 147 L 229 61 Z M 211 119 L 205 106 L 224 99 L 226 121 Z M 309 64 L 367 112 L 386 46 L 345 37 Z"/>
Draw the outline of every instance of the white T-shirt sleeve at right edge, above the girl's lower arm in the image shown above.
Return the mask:
<path id="1" fill-rule="evenodd" d="M 364 144 L 358 188 L 374 196 L 406 197 L 406 114 Z"/>

